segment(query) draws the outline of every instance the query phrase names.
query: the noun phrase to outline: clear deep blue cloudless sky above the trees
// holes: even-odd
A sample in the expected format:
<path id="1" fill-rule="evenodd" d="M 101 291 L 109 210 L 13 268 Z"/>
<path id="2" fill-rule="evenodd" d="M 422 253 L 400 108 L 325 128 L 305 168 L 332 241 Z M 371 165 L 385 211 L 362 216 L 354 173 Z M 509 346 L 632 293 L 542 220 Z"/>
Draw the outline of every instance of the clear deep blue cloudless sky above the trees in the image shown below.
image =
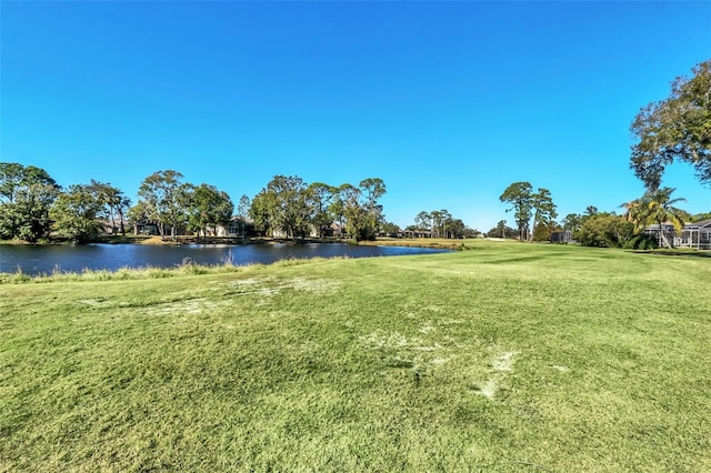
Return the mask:
<path id="1" fill-rule="evenodd" d="M 711 2 L 0 1 L 0 161 L 136 199 L 172 169 L 240 195 L 381 178 L 401 227 L 488 231 L 512 182 L 561 218 L 642 184 L 629 125 L 711 58 Z M 692 213 L 689 165 L 664 185 Z"/>

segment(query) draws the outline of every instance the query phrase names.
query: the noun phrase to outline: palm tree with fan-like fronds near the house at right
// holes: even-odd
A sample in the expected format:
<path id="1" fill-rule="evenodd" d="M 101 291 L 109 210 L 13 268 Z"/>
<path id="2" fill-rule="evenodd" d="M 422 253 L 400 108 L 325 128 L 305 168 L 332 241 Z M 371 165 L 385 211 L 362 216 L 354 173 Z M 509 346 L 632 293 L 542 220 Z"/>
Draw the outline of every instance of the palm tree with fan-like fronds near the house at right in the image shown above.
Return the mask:
<path id="1" fill-rule="evenodd" d="M 677 202 L 687 201 L 683 198 L 672 199 L 671 194 L 674 191 L 673 188 L 650 190 L 640 199 L 622 204 L 627 209 L 627 219 L 635 224 L 638 231 L 645 229 L 650 223 L 659 225 L 660 246 L 663 244 L 672 246 L 664 235 L 662 225 L 669 222 L 674 225 L 674 230 L 679 231 L 683 227 L 684 220 L 689 218 L 689 213 L 674 207 Z"/>

